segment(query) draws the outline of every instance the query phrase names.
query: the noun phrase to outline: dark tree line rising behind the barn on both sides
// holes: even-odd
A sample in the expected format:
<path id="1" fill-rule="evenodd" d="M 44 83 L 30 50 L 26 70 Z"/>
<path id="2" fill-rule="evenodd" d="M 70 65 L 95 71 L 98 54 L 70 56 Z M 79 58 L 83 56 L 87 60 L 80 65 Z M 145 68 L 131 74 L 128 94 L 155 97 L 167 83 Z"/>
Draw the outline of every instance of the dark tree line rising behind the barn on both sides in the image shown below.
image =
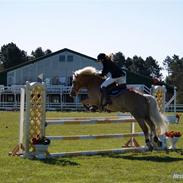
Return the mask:
<path id="1" fill-rule="evenodd" d="M 8 43 L 1 46 L 0 49 L 0 71 L 50 53 L 52 53 L 50 49 L 44 51 L 42 47 L 38 47 L 31 52 L 31 55 L 27 55 L 27 52 L 18 48 L 15 43 Z M 137 55 L 132 58 L 125 58 L 122 52 L 117 52 L 113 55 L 113 60 L 120 67 L 123 67 L 128 71 L 162 81 L 161 71 L 163 68 L 160 67 L 158 61 L 152 56 L 149 56 L 146 59 Z M 177 55 L 172 57 L 167 56 L 163 61 L 163 65 L 168 71 L 168 76 L 165 78 L 164 82 L 177 87 L 177 100 L 179 103 L 183 103 L 183 58 L 179 58 Z"/>

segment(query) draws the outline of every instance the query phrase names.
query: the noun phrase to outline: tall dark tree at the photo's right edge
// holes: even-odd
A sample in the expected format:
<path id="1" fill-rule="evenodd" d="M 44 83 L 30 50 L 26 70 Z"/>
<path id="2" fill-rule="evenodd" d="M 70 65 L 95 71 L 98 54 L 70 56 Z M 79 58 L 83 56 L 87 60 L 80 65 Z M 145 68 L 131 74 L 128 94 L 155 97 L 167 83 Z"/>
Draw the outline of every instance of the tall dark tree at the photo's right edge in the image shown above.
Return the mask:
<path id="1" fill-rule="evenodd" d="M 165 68 L 168 70 L 168 76 L 166 77 L 166 83 L 177 87 L 177 101 L 183 103 L 183 58 L 179 58 L 177 55 L 173 57 L 166 57 L 163 61 Z"/>

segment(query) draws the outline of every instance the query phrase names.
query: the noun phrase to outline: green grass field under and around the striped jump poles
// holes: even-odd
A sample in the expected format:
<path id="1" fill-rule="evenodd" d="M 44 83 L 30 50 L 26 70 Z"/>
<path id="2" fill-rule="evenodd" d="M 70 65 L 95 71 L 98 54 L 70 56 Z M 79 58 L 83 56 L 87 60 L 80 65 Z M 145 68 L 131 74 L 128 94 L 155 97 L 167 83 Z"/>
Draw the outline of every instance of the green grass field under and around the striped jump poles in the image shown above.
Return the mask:
<path id="1" fill-rule="evenodd" d="M 49 118 L 110 116 L 106 113 L 47 113 Z M 182 115 L 183 116 L 183 115 Z M 183 155 L 178 152 L 126 153 L 80 156 L 46 161 L 10 157 L 18 142 L 18 112 L 0 112 L 1 183 L 119 183 L 183 182 Z M 140 131 L 136 125 L 137 131 Z M 183 133 L 183 117 L 170 130 Z M 79 135 L 129 132 L 129 124 L 50 126 L 47 135 Z M 128 139 L 51 142 L 50 152 L 120 148 Z M 137 138 L 140 144 L 144 139 Z M 183 137 L 177 143 L 183 147 Z"/>

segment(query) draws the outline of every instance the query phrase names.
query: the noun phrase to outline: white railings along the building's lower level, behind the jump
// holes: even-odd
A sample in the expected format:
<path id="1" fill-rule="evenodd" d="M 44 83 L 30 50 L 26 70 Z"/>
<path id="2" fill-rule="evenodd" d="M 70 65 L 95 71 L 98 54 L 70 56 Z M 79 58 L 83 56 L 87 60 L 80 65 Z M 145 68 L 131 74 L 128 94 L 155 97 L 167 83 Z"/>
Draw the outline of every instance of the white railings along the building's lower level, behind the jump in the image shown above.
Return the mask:
<path id="1" fill-rule="evenodd" d="M 22 85 L 2 86 L 0 85 L 0 110 L 19 110 L 20 108 L 20 89 Z M 135 88 L 144 93 L 151 93 L 151 89 L 145 85 L 128 85 L 128 88 Z M 68 101 L 70 86 L 52 85 L 47 86 L 47 102 L 46 110 L 48 111 L 79 111 L 84 110 L 80 103 L 80 97 Z M 81 92 L 81 95 L 87 94 L 86 90 Z M 56 96 L 56 99 L 53 97 Z M 52 100 L 50 100 L 52 98 Z M 173 98 L 172 98 L 173 100 Z M 169 101 L 165 104 L 167 112 L 174 112 L 174 104 Z M 176 111 L 183 112 L 183 104 L 176 104 Z"/>

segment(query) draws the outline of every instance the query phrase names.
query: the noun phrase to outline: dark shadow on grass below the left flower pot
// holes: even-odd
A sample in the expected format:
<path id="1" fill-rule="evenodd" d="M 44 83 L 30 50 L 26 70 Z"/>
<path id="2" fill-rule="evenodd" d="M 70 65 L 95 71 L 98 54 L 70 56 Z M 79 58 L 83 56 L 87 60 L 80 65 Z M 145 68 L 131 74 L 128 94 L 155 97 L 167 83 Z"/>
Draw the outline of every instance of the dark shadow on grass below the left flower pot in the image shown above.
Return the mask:
<path id="1" fill-rule="evenodd" d="M 79 166 L 80 164 L 72 161 L 71 159 L 61 159 L 61 158 L 50 158 L 45 160 L 38 160 L 42 163 L 56 166 Z"/>

